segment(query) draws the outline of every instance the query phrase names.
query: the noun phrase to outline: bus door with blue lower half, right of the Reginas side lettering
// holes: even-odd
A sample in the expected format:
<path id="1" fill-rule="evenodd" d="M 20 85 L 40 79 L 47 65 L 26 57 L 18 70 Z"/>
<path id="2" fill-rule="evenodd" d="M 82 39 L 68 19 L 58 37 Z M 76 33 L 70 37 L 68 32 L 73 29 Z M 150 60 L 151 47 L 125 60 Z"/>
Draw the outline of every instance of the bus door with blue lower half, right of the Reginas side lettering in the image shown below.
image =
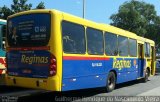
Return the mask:
<path id="1" fill-rule="evenodd" d="M 143 77 L 144 73 L 143 46 L 143 44 L 138 44 L 138 77 Z"/>

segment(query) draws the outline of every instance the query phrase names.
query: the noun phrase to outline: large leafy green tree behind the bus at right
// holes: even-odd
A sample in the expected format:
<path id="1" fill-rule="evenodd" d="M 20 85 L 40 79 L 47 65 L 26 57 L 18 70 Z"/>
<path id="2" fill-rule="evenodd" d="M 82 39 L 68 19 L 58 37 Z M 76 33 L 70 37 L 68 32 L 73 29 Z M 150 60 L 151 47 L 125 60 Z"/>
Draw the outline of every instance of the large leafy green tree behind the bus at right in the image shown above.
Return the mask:
<path id="1" fill-rule="evenodd" d="M 160 17 L 157 16 L 154 5 L 143 1 L 131 0 L 119 7 L 118 13 L 110 19 L 111 25 L 147 37 L 160 46 Z"/>

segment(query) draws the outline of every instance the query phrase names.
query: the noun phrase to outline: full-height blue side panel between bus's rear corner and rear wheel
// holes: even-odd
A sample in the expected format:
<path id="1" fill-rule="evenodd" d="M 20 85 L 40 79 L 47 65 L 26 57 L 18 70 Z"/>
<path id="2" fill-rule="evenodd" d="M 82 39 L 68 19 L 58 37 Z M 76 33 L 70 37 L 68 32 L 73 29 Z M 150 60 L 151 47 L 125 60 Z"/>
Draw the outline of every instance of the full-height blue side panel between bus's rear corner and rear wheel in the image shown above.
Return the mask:
<path id="1" fill-rule="evenodd" d="M 104 60 L 63 60 L 62 91 L 105 86 L 106 70 Z"/>

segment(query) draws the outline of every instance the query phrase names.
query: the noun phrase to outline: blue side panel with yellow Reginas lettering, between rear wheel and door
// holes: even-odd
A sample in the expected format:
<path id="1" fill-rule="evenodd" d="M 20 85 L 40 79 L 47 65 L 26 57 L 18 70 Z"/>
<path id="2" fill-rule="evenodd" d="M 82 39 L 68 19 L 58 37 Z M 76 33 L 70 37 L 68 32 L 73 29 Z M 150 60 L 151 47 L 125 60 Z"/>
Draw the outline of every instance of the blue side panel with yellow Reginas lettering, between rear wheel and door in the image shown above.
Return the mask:
<path id="1" fill-rule="evenodd" d="M 117 84 L 138 78 L 137 58 L 114 58 L 112 68 L 117 72 Z"/>

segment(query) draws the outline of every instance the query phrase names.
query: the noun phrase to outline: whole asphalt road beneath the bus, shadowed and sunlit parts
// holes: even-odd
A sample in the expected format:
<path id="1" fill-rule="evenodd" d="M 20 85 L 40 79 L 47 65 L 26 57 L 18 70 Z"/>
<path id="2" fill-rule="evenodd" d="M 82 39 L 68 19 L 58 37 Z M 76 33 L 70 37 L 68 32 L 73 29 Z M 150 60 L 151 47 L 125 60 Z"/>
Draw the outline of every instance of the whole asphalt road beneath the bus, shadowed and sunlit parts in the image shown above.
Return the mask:
<path id="1" fill-rule="evenodd" d="M 63 93 L 55 93 L 55 92 L 43 93 L 42 92 L 41 94 L 34 94 L 30 97 L 28 96 L 16 97 L 16 95 L 14 95 L 14 97 L 9 97 L 7 96 L 6 90 L 16 92 L 17 90 L 24 91 L 25 89 L 0 88 L 0 96 L 2 97 L 2 99 L 4 100 L 8 99 L 9 101 L 11 100 L 10 102 L 17 102 L 17 101 L 18 102 L 54 102 L 54 101 L 57 101 L 57 102 L 99 101 L 100 102 L 100 101 L 103 101 L 104 97 L 106 98 L 110 96 L 139 96 L 139 97 L 160 96 L 160 75 L 150 77 L 147 83 L 142 83 L 140 80 L 138 81 L 136 80 L 136 81 L 126 82 L 123 84 L 118 84 L 116 86 L 116 89 L 110 93 L 106 93 L 105 88 L 94 88 L 94 89 L 69 91 L 69 92 L 63 92 Z M 111 102 L 112 100 L 108 100 L 107 98 L 107 101 Z M 160 101 L 160 98 L 157 102 L 159 101 Z"/>

